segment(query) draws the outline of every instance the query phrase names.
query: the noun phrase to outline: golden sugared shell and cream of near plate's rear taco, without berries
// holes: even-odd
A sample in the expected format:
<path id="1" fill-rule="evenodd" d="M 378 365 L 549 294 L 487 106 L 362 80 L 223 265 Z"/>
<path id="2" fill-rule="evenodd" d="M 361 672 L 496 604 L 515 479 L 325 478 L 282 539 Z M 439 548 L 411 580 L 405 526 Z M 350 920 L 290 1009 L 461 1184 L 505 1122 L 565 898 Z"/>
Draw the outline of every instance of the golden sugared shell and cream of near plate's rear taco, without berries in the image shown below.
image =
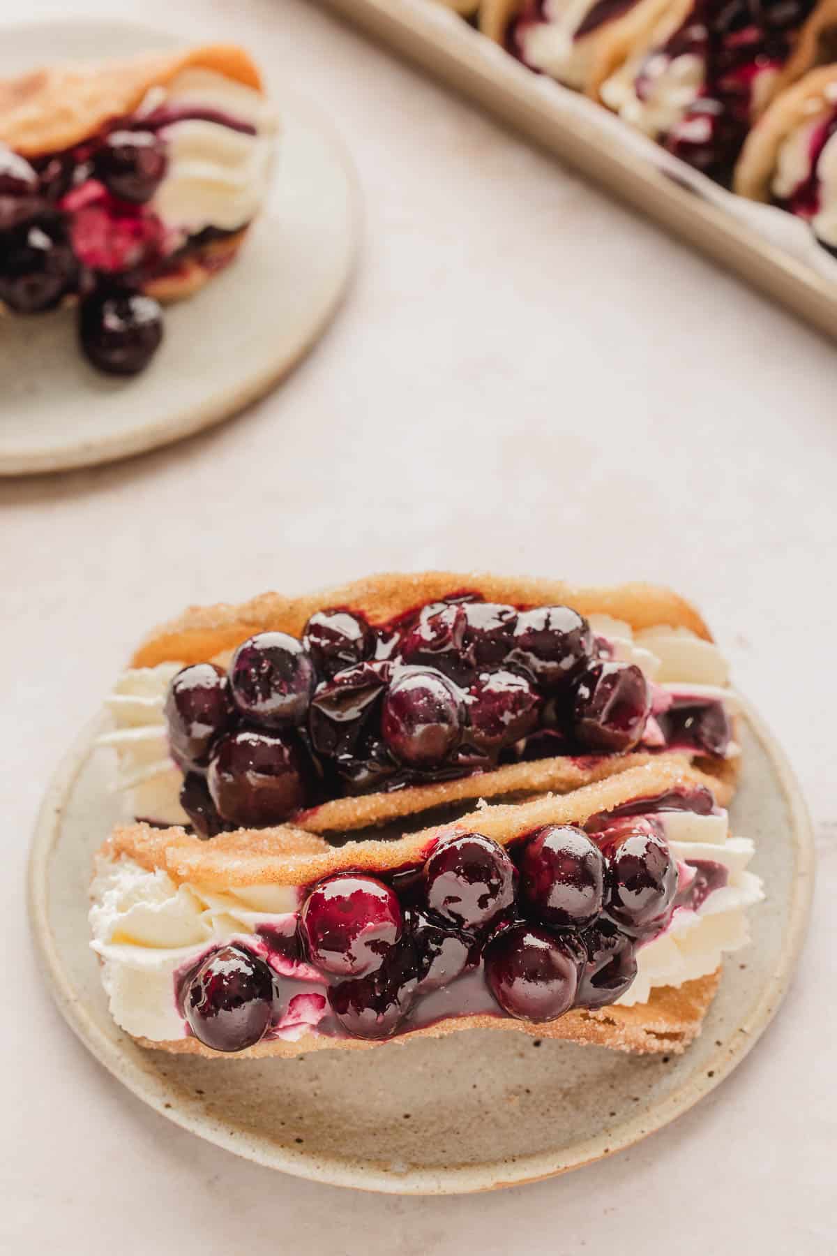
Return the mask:
<path id="1" fill-rule="evenodd" d="M 178 803 L 183 775 L 169 759 L 163 702 L 179 668 L 213 662 L 227 667 L 233 649 L 253 634 L 282 632 L 302 636 L 310 617 L 325 608 L 360 613 L 375 627 L 403 622 L 422 607 L 453 597 L 478 597 L 516 612 L 533 607 L 567 605 L 590 623 L 599 642 L 614 658 L 659 669 L 663 682 L 654 690 L 665 701 L 670 692 L 684 706 L 694 690 L 695 705 L 725 712 L 732 737 L 723 754 L 708 754 L 698 744 L 676 737 L 669 742 L 634 745 L 622 751 L 567 752 L 538 744 L 520 761 L 454 767 L 435 777 L 399 776 L 387 788 L 366 793 L 339 791 L 311 799 L 290 816 L 310 833 L 355 833 L 419 815 L 435 808 L 467 806 L 477 799 L 521 799 L 543 793 L 567 793 L 591 781 L 674 755 L 694 761 L 715 779 L 722 799 L 734 790 L 738 754 L 734 741 L 735 700 L 727 687 L 727 669 L 698 612 L 676 594 L 645 584 L 617 588 L 580 588 L 555 580 L 503 579 L 483 573 L 428 571 L 419 575 L 385 574 L 319 594 L 285 598 L 264 594 L 242 605 L 192 607 L 156 629 L 136 651 L 131 669 L 118 682 L 108 706 L 117 730 L 102 740 L 120 760 L 120 784 L 132 791 L 132 814 L 163 824 L 188 823 Z M 609 636 L 610 634 L 610 636 Z M 430 664 L 432 666 L 432 664 Z M 661 669 L 660 669 L 661 668 Z M 685 695 L 685 696 L 684 696 Z M 656 701 L 656 700 L 655 700 Z M 661 717 L 660 717 L 661 718 Z M 650 730 L 653 721 L 649 720 Z M 650 735 L 650 734 L 649 734 Z M 191 813 L 189 813 L 191 814 Z M 274 819 L 286 819 L 275 815 Z"/>

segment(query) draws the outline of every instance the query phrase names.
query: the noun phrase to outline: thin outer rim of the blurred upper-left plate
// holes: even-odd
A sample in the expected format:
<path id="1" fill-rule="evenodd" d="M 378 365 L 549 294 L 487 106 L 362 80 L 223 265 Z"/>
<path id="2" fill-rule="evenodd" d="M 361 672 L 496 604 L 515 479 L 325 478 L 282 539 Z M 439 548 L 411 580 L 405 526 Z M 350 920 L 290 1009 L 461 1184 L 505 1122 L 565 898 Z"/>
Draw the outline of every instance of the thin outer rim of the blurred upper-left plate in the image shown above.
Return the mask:
<path id="1" fill-rule="evenodd" d="M 118 18 L 95 18 L 83 15 L 78 19 L 63 19 L 60 21 L 44 18 L 29 21 L 4 21 L 0 20 L 0 31 L 5 38 L 14 36 L 15 33 L 34 33 L 48 30 L 50 38 L 60 35 L 61 28 L 87 26 L 90 30 L 120 31 L 123 35 L 133 35 L 138 40 L 138 50 L 142 51 L 142 41 L 156 40 L 169 43 L 171 46 L 189 43 L 188 38 L 173 28 L 152 26 L 144 23 L 125 21 Z M 267 396 L 297 365 L 311 353 L 315 345 L 323 339 L 335 320 L 340 308 L 346 301 L 351 291 L 354 279 L 361 254 L 361 241 L 364 235 L 364 205 L 360 187 L 360 177 L 355 168 L 349 147 L 343 139 L 330 118 L 314 102 L 296 90 L 285 90 L 279 98 L 282 107 L 287 107 L 289 113 L 301 114 L 317 131 L 319 136 L 334 156 L 336 165 L 343 171 L 348 188 L 346 210 L 346 239 L 348 247 L 341 261 L 339 274 L 335 274 L 335 286 L 329 300 L 319 311 L 314 325 L 307 334 L 295 347 L 294 352 L 282 358 L 280 364 L 274 364 L 261 371 L 257 376 L 247 379 L 243 386 L 232 386 L 223 393 L 213 393 L 202 403 L 186 407 L 184 412 L 174 422 L 157 421 L 142 431 L 133 431 L 115 437 L 108 435 L 102 440 L 83 440 L 74 445 L 63 447 L 58 452 L 31 451 L 23 453 L 5 455 L 0 450 L 0 479 L 13 479 L 31 475 L 56 475 L 63 471 L 77 471 L 83 467 L 102 466 L 132 458 L 142 453 L 151 453 L 154 450 L 164 448 L 178 441 L 188 440 L 200 432 L 218 426 L 227 420 L 235 418 L 248 406 Z M 281 170 L 277 177 L 281 177 Z M 256 224 L 259 219 L 255 220 Z M 247 247 L 247 244 L 245 244 Z M 178 303 L 179 304 L 179 303 Z M 102 404 L 107 404 L 103 399 Z"/>

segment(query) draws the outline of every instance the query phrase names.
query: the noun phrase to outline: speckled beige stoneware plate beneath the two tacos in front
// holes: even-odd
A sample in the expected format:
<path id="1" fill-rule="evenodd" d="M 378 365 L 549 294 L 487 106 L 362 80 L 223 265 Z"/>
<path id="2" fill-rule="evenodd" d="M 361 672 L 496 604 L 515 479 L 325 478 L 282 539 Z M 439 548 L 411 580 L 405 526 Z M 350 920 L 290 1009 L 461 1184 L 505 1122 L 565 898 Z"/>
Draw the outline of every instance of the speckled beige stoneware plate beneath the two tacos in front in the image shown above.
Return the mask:
<path id="1" fill-rule="evenodd" d="M 748 712 L 732 809 L 755 840 L 767 901 L 753 945 L 727 965 L 701 1036 L 681 1056 L 640 1058 L 489 1030 L 296 1060 L 201 1060 L 144 1051 L 108 1015 L 88 946 L 93 852 L 117 818 L 110 751 L 79 739 L 44 799 L 29 902 L 53 993 L 83 1042 L 134 1094 L 210 1142 L 271 1168 L 394 1193 L 528 1182 L 617 1152 L 685 1112 L 753 1046 L 804 934 L 813 839 L 782 751 Z M 491 1113 L 491 1120 L 486 1114 Z"/>

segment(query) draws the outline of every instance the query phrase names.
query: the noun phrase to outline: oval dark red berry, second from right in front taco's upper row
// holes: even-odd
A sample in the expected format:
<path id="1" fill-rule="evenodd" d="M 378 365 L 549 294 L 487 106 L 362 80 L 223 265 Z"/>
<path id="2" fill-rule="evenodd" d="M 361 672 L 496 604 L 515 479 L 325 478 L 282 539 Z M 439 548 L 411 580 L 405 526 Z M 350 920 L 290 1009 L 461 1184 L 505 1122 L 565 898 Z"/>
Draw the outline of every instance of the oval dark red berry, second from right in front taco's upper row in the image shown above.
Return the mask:
<path id="1" fill-rule="evenodd" d="M 526 843 L 520 873 L 521 896 L 545 924 L 582 929 L 601 912 L 605 860 L 581 829 L 538 829 Z"/>

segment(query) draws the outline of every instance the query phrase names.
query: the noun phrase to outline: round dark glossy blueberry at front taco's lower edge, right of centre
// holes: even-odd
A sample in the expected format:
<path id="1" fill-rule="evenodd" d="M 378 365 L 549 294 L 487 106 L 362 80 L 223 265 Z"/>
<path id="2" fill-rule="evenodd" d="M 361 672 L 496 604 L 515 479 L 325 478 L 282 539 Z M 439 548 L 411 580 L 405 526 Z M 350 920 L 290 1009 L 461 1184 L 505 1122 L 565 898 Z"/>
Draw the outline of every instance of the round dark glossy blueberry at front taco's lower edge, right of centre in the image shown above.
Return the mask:
<path id="1" fill-rule="evenodd" d="M 540 926 L 503 929 L 486 948 L 486 981 L 509 1016 L 551 1021 L 572 1007 L 578 953 L 572 943 Z"/>

